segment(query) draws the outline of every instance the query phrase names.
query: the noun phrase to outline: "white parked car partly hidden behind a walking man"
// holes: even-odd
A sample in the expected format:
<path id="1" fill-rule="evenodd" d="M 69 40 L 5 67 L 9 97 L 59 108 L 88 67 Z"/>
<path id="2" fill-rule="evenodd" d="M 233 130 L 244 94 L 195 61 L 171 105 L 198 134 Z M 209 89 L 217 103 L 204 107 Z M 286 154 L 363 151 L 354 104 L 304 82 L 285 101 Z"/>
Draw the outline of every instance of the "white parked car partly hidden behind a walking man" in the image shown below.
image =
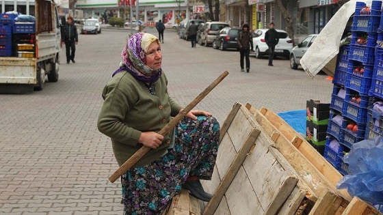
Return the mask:
<path id="1" fill-rule="evenodd" d="M 252 43 L 254 45 L 254 53 L 256 58 L 261 58 L 263 55 L 269 55 L 269 46 L 265 41 L 265 33 L 268 29 L 257 29 L 252 33 Z M 293 40 L 289 38 L 286 31 L 276 29 L 278 32 L 279 42 L 275 47 L 274 56 L 284 56 L 287 59 L 290 57 L 293 49 Z"/>

